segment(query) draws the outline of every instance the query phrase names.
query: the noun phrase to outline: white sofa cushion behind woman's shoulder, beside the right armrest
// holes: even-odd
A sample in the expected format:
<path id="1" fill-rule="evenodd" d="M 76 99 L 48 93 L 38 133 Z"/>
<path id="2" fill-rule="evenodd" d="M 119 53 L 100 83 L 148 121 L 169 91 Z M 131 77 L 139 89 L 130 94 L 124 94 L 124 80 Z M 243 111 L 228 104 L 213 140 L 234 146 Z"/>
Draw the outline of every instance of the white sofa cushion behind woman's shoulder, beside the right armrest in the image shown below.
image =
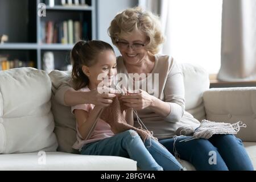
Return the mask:
<path id="1" fill-rule="evenodd" d="M 205 119 L 203 93 L 209 89 L 209 75 L 199 65 L 180 63 L 184 77 L 185 110 L 201 121 Z"/>

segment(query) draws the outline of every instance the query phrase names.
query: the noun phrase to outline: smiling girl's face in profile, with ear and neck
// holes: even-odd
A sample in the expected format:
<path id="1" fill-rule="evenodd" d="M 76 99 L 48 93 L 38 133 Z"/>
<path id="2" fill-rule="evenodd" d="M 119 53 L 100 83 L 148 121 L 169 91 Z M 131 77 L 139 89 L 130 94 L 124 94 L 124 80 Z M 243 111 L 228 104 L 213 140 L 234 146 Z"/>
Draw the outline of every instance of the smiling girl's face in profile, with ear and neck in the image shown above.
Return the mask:
<path id="1" fill-rule="evenodd" d="M 106 78 L 106 84 L 111 84 L 114 76 L 117 74 L 117 61 L 113 51 L 103 51 L 96 59 L 96 64 L 92 67 L 83 66 L 84 73 L 89 78 L 89 86 L 93 89 L 96 88 L 102 80 L 98 80 L 98 75 Z"/>

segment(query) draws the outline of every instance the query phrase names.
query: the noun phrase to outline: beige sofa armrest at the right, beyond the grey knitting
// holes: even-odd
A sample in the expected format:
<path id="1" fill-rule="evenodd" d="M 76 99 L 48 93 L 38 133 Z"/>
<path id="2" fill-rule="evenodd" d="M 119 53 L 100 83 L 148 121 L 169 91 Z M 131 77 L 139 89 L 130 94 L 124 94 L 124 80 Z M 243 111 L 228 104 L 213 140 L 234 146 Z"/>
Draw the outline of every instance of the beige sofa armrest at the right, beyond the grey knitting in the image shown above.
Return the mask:
<path id="1" fill-rule="evenodd" d="M 203 94 L 206 118 L 210 121 L 247 125 L 237 137 L 256 142 L 256 87 L 213 88 Z"/>

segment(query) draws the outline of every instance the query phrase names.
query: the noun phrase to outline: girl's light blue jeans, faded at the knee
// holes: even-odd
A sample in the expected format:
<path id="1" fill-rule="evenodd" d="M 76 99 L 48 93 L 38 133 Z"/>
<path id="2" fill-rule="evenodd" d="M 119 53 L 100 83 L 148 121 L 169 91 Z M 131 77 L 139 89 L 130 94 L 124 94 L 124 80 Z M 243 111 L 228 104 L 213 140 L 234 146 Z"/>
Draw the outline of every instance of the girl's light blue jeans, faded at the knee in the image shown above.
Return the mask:
<path id="1" fill-rule="evenodd" d="M 174 156 L 154 139 L 143 143 L 134 130 L 127 130 L 113 137 L 86 144 L 81 149 L 83 155 L 122 156 L 137 161 L 142 170 L 182 170 Z"/>

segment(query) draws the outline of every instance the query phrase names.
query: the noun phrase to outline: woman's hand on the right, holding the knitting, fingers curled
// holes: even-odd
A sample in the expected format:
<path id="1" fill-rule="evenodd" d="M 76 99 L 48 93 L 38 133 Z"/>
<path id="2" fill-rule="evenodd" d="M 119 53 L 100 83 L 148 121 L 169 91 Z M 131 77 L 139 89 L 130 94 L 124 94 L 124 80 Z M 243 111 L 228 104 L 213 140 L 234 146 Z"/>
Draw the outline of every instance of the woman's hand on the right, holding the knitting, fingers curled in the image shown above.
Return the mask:
<path id="1" fill-rule="evenodd" d="M 142 110 L 147 107 L 150 107 L 154 102 L 155 97 L 151 96 L 144 90 L 139 89 L 138 94 L 126 94 L 120 97 L 120 100 L 123 102 L 123 105 L 131 107 L 135 110 Z"/>

